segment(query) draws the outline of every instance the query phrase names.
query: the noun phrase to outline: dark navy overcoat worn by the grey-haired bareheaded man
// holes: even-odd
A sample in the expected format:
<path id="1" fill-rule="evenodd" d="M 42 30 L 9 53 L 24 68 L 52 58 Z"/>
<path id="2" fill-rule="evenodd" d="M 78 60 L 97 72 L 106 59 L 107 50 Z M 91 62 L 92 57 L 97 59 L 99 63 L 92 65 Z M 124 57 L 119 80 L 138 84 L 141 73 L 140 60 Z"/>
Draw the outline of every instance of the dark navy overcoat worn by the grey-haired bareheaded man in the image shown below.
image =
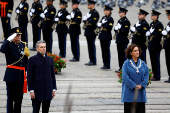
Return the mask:
<path id="1" fill-rule="evenodd" d="M 57 89 L 53 59 L 47 55 L 45 57 L 44 60 L 37 53 L 28 60 L 28 91 L 34 90 L 36 100 L 52 100 L 53 89 Z"/>

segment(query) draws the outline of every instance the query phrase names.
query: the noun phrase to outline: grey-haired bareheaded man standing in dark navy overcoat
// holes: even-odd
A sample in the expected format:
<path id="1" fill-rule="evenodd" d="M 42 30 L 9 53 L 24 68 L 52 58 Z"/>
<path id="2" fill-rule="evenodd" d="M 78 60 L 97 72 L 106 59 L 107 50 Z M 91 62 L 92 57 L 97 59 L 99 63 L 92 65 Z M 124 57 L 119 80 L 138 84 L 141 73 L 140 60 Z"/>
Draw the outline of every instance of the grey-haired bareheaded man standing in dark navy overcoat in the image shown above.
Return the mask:
<path id="1" fill-rule="evenodd" d="M 48 113 L 50 102 L 55 96 L 56 79 L 53 58 L 46 54 L 45 41 L 36 43 L 35 56 L 28 60 L 27 79 L 33 113 L 39 113 L 42 103 L 42 113 Z"/>

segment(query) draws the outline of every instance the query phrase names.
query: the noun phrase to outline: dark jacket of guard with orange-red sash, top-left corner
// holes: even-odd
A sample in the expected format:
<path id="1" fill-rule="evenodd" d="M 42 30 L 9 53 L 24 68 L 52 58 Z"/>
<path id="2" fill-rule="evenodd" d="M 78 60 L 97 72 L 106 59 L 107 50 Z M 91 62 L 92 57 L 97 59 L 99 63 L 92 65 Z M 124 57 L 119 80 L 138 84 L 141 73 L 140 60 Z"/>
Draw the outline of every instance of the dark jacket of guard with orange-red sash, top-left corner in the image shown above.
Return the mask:
<path id="1" fill-rule="evenodd" d="M 13 7 L 14 7 L 14 1 L 13 0 L 0 0 L 0 2 L 7 2 L 8 3 L 6 5 L 6 8 L 5 8 L 6 13 L 4 13 L 4 8 L 2 8 L 2 7 L 0 8 L 1 11 L 2 11 L 2 12 L 0 11 L 0 16 L 6 17 L 8 13 L 12 14 L 12 10 L 13 10 Z M 2 5 L 2 3 L 1 3 L 1 5 Z"/>

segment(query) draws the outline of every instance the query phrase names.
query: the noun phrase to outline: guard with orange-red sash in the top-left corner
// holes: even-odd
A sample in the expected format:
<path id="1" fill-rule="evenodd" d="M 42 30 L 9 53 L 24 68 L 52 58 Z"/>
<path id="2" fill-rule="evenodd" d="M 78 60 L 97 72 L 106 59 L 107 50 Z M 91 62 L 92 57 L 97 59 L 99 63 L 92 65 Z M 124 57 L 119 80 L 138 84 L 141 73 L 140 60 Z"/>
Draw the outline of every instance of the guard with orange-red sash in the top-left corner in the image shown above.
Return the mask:
<path id="1" fill-rule="evenodd" d="M 13 0 L 0 0 L 0 16 L 5 40 L 11 35 L 9 31 L 11 30 L 10 18 L 12 15 L 13 6 Z"/>

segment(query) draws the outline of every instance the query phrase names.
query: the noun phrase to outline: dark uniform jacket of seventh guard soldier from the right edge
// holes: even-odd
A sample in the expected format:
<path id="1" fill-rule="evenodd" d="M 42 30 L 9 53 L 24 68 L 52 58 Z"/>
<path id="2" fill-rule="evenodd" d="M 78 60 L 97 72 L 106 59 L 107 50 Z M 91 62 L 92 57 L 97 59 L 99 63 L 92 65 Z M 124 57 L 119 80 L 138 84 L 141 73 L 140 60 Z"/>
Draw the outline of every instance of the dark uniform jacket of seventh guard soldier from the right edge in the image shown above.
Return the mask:
<path id="1" fill-rule="evenodd" d="M 75 10 L 72 10 L 72 12 L 75 15 L 74 15 L 74 18 L 72 18 L 70 20 L 70 26 L 69 26 L 68 33 L 70 35 L 79 35 L 79 34 L 81 34 L 80 24 L 81 24 L 81 19 L 82 19 L 82 13 L 78 8 Z"/>

